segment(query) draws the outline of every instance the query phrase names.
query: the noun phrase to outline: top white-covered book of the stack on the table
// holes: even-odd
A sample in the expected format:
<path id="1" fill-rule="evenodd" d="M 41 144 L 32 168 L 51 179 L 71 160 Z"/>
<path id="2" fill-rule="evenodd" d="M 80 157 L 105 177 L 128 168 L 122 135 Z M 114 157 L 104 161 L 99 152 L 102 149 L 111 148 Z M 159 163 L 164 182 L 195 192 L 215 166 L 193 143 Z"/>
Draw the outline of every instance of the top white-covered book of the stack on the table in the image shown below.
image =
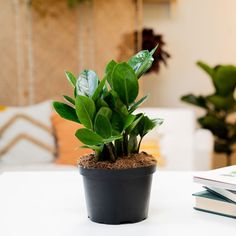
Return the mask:
<path id="1" fill-rule="evenodd" d="M 236 165 L 196 173 L 193 181 L 209 187 L 236 191 Z"/>

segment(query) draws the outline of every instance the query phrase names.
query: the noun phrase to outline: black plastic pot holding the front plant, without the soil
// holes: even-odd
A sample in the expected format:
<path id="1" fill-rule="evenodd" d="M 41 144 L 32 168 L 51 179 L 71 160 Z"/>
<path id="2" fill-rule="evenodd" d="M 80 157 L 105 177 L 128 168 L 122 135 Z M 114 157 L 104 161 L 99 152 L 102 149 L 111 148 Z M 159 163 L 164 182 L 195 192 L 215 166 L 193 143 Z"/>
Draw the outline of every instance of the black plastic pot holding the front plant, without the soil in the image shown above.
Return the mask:
<path id="1" fill-rule="evenodd" d="M 86 169 L 83 175 L 88 217 L 98 223 L 123 224 L 148 216 L 156 166 L 125 170 Z"/>

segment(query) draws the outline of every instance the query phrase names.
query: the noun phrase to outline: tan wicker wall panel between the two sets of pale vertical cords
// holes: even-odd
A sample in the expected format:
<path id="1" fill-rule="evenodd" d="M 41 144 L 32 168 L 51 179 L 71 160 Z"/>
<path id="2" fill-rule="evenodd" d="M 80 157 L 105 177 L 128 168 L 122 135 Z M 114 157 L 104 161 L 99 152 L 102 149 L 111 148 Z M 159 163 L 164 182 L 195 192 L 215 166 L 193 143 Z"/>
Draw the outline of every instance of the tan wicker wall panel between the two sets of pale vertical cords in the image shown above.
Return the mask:
<path id="1" fill-rule="evenodd" d="M 64 0 L 43 1 L 44 17 L 32 10 L 33 102 L 71 91 L 64 70 L 78 71 L 77 11 Z"/>

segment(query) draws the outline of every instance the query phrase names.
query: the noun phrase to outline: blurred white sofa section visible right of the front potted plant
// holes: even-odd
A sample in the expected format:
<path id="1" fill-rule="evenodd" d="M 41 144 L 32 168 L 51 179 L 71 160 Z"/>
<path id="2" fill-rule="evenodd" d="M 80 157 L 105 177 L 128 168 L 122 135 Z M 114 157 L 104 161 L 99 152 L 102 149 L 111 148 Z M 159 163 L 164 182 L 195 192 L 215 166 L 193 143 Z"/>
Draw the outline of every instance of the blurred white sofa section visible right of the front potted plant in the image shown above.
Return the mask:
<path id="1" fill-rule="evenodd" d="M 196 128 L 193 110 L 183 108 L 140 108 L 151 118 L 163 118 L 146 139 L 157 140 L 165 160 L 165 170 L 209 170 L 213 152 L 213 135 L 209 130 Z"/>

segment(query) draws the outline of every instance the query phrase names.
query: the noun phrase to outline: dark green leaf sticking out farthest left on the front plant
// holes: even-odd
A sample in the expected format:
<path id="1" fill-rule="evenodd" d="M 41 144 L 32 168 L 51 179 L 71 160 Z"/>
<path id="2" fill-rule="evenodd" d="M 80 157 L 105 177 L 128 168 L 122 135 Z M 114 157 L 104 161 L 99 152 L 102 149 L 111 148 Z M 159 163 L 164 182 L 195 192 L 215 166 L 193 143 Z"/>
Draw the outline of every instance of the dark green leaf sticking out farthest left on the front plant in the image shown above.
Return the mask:
<path id="1" fill-rule="evenodd" d="M 53 107 L 62 118 L 80 123 L 73 107 L 62 102 L 53 102 Z"/>

